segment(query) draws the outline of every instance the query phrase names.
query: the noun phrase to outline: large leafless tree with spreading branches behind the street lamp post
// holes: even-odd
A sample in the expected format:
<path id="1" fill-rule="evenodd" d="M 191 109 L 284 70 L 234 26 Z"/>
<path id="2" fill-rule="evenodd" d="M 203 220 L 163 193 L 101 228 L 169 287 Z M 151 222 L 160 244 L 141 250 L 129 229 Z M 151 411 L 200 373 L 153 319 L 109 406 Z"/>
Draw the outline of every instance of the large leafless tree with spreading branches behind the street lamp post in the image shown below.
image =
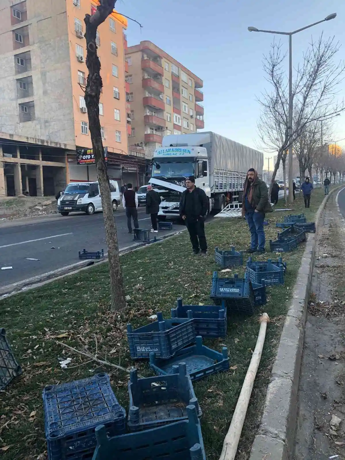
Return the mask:
<path id="1" fill-rule="evenodd" d="M 321 35 L 317 41 L 311 41 L 310 47 L 304 53 L 303 63 L 295 69 L 291 137 L 288 124 L 288 79 L 283 69 L 286 54 L 282 53 L 282 44 L 273 42 L 270 53 L 264 57 L 263 67 L 270 90 L 259 98 L 259 144 L 266 151 L 277 152 L 269 193 L 283 152 L 296 142 L 305 127 L 345 108 L 343 102 L 336 102 L 339 83 L 343 80 L 345 71 L 343 62 L 334 63 L 339 47 L 334 39 L 324 40 Z"/>

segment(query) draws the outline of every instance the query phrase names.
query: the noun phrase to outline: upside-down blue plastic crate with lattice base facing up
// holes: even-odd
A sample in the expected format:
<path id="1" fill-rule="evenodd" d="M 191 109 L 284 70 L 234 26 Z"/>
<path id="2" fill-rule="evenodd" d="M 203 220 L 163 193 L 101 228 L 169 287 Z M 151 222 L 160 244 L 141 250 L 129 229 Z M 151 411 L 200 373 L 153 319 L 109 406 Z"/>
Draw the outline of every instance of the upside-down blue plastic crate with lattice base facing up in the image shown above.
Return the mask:
<path id="1" fill-rule="evenodd" d="M 42 397 L 49 460 L 91 458 L 100 424 L 109 436 L 126 431 L 126 411 L 111 389 L 108 374 L 48 385 Z"/>

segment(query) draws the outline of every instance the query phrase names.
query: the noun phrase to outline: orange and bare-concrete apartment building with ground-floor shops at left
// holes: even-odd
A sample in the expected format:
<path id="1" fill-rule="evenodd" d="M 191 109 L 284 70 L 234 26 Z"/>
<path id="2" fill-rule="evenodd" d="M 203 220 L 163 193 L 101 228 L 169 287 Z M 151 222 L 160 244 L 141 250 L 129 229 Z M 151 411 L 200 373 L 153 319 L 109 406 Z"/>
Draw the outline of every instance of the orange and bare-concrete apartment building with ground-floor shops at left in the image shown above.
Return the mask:
<path id="1" fill-rule="evenodd" d="M 83 98 L 84 17 L 97 5 L 0 0 L 0 196 L 55 195 L 69 181 L 97 180 L 95 164 L 85 162 L 92 144 Z M 98 30 L 100 120 L 109 178 L 139 185 L 144 151 L 129 151 L 127 141 L 126 28 L 114 11 Z"/>

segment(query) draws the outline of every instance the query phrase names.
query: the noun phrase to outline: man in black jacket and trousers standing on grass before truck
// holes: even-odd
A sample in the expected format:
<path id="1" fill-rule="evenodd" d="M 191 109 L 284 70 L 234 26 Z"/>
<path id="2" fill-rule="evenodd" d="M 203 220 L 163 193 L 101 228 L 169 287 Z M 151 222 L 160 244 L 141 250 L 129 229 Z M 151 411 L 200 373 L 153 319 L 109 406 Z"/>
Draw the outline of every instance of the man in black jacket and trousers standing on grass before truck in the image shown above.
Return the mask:
<path id="1" fill-rule="evenodd" d="M 209 200 L 204 190 L 195 186 L 195 177 L 186 179 L 186 188 L 180 200 L 180 216 L 184 220 L 190 235 L 194 254 L 207 255 L 205 236 L 205 218 L 209 210 Z"/>

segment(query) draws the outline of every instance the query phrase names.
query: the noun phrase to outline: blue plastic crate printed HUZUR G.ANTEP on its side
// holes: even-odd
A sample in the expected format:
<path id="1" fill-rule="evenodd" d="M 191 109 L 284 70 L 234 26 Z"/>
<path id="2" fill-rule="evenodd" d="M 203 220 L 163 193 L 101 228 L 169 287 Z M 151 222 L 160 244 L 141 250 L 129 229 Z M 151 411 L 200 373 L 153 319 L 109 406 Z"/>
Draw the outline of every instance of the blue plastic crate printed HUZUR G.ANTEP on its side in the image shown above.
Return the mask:
<path id="1" fill-rule="evenodd" d="M 161 358 L 171 358 L 176 351 L 195 342 L 194 321 L 191 319 L 163 320 L 161 312 L 157 321 L 132 330 L 127 324 L 127 339 L 132 359 L 149 359 L 150 353 Z"/>

